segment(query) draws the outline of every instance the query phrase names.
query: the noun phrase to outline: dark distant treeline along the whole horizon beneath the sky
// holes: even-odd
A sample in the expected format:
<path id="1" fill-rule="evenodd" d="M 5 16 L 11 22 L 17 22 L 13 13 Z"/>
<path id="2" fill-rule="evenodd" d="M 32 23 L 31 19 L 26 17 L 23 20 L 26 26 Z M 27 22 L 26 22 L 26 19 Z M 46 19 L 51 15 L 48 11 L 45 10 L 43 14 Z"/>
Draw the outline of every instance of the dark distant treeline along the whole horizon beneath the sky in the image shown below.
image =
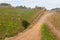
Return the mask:
<path id="1" fill-rule="evenodd" d="M 0 8 L 2 8 L 2 7 L 3 8 L 10 7 L 10 8 L 20 8 L 20 9 L 32 9 L 31 7 L 26 7 L 26 6 L 22 6 L 22 5 L 14 7 L 9 3 L 0 3 Z M 45 7 L 39 7 L 39 6 L 35 6 L 35 8 L 33 8 L 33 9 L 45 9 L 45 10 L 47 10 Z M 51 11 L 59 11 L 60 12 L 60 8 L 53 8 L 53 9 L 51 9 Z"/>

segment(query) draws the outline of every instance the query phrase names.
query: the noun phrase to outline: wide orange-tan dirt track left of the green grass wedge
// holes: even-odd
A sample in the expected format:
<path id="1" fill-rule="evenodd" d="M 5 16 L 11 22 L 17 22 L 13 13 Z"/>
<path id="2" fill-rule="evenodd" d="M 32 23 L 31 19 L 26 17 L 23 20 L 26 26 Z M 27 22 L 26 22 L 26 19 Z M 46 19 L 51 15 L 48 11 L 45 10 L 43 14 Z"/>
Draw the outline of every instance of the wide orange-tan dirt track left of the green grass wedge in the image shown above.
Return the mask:
<path id="1" fill-rule="evenodd" d="M 53 13 L 43 15 L 31 29 L 22 34 L 19 33 L 17 36 L 8 38 L 6 40 L 41 40 L 41 24 L 45 21 L 46 17 L 52 14 Z"/>

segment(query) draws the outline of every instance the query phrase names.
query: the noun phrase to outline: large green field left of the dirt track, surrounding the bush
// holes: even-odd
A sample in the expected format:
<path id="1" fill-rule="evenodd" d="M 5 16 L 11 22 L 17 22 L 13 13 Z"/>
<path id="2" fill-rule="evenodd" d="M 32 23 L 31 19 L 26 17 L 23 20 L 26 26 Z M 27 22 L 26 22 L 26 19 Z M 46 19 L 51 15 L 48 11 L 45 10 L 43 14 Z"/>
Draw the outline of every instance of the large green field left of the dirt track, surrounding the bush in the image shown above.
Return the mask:
<path id="1" fill-rule="evenodd" d="M 21 21 L 30 22 L 36 12 L 33 9 L 0 8 L 0 40 L 22 32 L 25 28 Z"/>

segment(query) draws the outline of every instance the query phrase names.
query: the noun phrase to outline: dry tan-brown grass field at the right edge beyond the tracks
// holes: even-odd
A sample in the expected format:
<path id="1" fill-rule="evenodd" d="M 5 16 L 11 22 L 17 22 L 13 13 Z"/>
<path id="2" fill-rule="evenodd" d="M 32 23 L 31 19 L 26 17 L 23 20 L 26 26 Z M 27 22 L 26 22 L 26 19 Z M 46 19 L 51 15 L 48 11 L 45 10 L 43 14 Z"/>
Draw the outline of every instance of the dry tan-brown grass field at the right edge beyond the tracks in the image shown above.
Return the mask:
<path id="1" fill-rule="evenodd" d="M 57 30 L 60 31 L 60 12 L 50 15 L 47 19 L 56 27 Z"/>

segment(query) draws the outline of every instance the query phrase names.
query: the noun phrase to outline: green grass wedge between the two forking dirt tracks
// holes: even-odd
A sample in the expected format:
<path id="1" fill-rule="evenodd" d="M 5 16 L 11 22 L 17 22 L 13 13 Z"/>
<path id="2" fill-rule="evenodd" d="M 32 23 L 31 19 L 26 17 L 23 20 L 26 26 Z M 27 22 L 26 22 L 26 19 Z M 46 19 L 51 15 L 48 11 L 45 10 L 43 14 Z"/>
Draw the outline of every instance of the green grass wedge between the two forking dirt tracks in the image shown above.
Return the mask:
<path id="1" fill-rule="evenodd" d="M 42 40 L 55 40 L 55 37 L 53 36 L 52 32 L 48 29 L 47 25 L 42 24 Z"/>

